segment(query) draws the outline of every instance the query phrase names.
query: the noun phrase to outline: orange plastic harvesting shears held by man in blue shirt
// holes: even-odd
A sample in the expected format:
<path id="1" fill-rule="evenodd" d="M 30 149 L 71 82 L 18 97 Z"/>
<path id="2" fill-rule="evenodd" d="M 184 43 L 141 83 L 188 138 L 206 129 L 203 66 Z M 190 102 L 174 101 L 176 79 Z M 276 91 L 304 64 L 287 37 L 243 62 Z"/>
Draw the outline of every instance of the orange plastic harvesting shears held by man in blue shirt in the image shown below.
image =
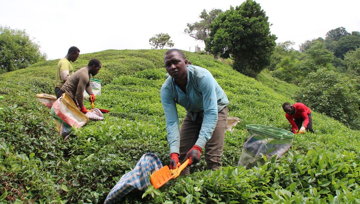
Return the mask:
<path id="1" fill-rule="evenodd" d="M 178 164 L 180 164 L 180 162 Z M 181 171 L 183 171 L 184 168 L 188 166 L 188 164 L 189 159 L 187 159 L 183 164 L 181 164 L 180 167 L 176 167 L 175 169 L 169 169 L 168 166 L 164 166 L 158 171 L 151 174 L 150 181 L 153 184 L 154 188 L 158 189 L 169 180 L 178 177 Z"/>

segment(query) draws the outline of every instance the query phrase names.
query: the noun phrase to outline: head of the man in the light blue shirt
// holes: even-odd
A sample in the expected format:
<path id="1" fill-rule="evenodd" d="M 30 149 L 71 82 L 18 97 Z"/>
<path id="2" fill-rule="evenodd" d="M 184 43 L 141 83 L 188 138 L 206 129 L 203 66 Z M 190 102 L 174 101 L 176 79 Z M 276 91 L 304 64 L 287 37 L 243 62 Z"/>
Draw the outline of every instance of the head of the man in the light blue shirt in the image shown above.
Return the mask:
<path id="1" fill-rule="evenodd" d="M 188 60 L 183 59 L 183 57 L 175 52 L 168 53 L 164 57 L 165 69 L 169 75 L 174 79 L 184 79 L 188 78 Z"/>

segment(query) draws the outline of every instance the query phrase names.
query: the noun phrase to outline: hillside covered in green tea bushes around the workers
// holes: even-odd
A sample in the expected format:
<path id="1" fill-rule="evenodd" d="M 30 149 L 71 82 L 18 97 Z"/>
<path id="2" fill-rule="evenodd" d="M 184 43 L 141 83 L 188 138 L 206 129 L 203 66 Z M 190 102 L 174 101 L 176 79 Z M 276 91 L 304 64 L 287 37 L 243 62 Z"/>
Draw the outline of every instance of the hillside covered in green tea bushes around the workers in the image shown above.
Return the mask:
<path id="1" fill-rule="evenodd" d="M 89 122 L 75 130 L 66 141 L 56 132 L 49 109 L 35 97 L 41 92 L 53 94 L 58 60 L 1 74 L 0 95 L 4 99 L 0 106 L 8 108 L 0 111 L 0 162 L 4 165 L 0 195 L 6 191 L 7 200 L 26 203 L 102 203 L 144 153 L 155 153 L 164 165 L 168 164 L 160 100 L 160 88 L 166 79 L 165 52 L 105 50 L 80 55 L 72 63 L 75 70 L 85 67 L 92 58 L 102 62 L 102 69 L 94 77 L 102 81 L 102 95 L 96 97 L 95 107 L 109 109 L 110 113 L 105 114 L 105 121 Z M 154 191 L 154 199 L 141 199 L 142 192 L 136 191 L 123 203 L 360 199 L 360 178 L 356 176 L 360 132 L 315 112 L 315 134 L 296 135 L 289 153 L 279 162 L 248 170 L 236 168 L 247 124 L 290 130 L 282 104 L 294 102 L 289 95 L 291 90 L 281 82 L 280 86 L 272 83 L 266 74 L 260 79 L 264 83 L 246 77 L 212 56 L 190 52 L 185 55 L 193 65 L 213 74 L 229 98 L 229 116 L 240 118 L 235 131 L 225 136 L 222 161 L 226 168 L 205 171 L 202 159 L 190 169 L 195 173 L 171 181 L 161 188 L 162 193 Z M 85 106 L 89 108 L 90 104 Z M 183 118 L 185 111 L 179 110 Z"/>

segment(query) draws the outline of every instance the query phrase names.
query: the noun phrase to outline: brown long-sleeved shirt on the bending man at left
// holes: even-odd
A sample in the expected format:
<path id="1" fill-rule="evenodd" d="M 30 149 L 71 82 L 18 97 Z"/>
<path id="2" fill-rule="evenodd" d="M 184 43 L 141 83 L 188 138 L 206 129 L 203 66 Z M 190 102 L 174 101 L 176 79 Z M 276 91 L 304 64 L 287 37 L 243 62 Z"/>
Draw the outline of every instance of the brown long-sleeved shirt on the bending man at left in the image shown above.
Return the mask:
<path id="1" fill-rule="evenodd" d="M 65 91 L 72 100 L 76 100 L 79 107 L 84 107 L 84 90 L 91 95 L 93 89 L 90 86 L 91 74 L 87 71 L 86 67 L 83 67 L 72 74 L 61 87 L 61 90 Z"/>

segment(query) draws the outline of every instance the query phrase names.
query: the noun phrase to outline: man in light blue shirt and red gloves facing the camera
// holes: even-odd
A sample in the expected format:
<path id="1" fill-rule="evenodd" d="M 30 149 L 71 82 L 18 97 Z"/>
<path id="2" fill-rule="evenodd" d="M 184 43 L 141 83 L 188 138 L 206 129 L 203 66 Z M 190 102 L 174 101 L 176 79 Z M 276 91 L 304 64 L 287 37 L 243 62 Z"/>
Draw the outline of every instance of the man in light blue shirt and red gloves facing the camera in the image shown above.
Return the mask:
<path id="1" fill-rule="evenodd" d="M 181 50 L 168 50 L 164 63 L 170 75 L 161 87 L 169 167 L 176 168 L 179 159 L 189 159 L 188 166 L 198 163 L 205 148 L 206 168 L 220 169 L 229 104 L 224 90 L 207 69 L 189 65 Z M 180 130 L 176 104 L 186 109 Z M 182 172 L 189 173 L 189 167 Z"/>

